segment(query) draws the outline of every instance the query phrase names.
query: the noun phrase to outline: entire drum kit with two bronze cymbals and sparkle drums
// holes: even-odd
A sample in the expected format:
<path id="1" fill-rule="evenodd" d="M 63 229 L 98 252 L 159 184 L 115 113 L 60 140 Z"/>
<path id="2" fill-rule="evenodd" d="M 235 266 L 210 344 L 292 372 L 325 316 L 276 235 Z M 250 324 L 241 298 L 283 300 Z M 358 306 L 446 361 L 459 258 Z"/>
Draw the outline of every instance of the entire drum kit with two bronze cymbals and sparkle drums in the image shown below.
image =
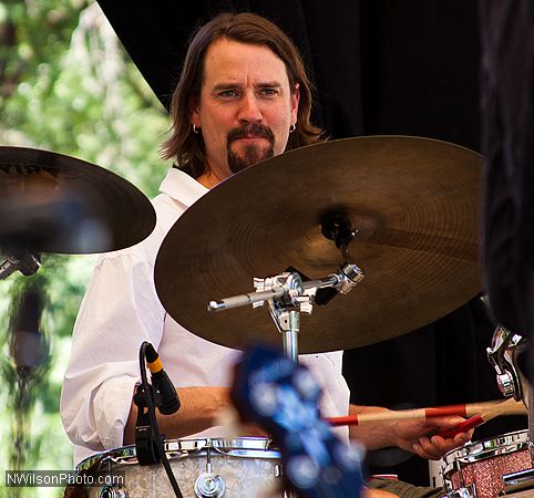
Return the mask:
<path id="1" fill-rule="evenodd" d="M 481 165 L 463 147 L 407 136 L 326 142 L 259 163 L 217 185 L 170 230 L 154 270 L 160 300 L 205 340 L 244 349 L 279 344 L 281 335 L 294 360 L 421 328 L 481 290 Z M 155 226 L 140 190 L 80 159 L 0 147 L 0 279 L 33 273 L 42 252 L 117 250 Z M 312 317 L 300 321 L 302 313 Z M 499 328 L 487 353 L 503 395 L 528 409 L 531 390 L 517 367 L 524 347 Z M 534 425 L 532 409 L 528 421 Z M 442 461 L 444 496 L 534 492 L 528 440 L 520 432 L 451 452 Z M 264 438 L 167 440 L 165 453 L 187 497 L 223 496 L 209 478 L 202 489 L 187 485 L 207 467 L 218 466 L 232 497 L 259 496 L 281 474 Z M 134 447 L 79 466 L 81 475 L 105 470 L 126 471 L 129 490 L 93 487 L 91 496 L 172 492 L 161 467 L 140 470 Z M 162 494 L 151 495 L 156 488 Z"/>

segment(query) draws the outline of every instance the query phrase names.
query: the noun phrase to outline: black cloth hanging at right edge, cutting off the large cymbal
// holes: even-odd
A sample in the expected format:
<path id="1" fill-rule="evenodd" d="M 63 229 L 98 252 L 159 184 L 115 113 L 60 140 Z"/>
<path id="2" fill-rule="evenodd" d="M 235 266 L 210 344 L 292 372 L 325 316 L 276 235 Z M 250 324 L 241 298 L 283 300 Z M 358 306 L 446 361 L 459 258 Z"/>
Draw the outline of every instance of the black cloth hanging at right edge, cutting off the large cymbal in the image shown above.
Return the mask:
<path id="1" fill-rule="evenodd" d="M 485 288 L 496 321 L 534 342 L 534 4 L 480 2 Z M 534 355 L 522 370 L 534 383 Z"/>

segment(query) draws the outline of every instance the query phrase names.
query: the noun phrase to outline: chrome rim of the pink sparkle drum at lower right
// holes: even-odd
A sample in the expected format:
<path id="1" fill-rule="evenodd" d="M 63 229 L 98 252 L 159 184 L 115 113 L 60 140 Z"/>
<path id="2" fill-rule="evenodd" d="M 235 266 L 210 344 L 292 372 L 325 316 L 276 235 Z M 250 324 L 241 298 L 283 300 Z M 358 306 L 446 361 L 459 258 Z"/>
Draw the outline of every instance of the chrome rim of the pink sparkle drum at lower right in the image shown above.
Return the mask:
<path id="1" fill-rule="evenodd" d="M 451 471 L 458 470 L 458 463 L 465 465 L 474 464 L 499 455 L 518 452 L 527 445 L 528 429 L 515 430 L 468 443 L 443 456 L 442 474 L 448 476 Z"/>

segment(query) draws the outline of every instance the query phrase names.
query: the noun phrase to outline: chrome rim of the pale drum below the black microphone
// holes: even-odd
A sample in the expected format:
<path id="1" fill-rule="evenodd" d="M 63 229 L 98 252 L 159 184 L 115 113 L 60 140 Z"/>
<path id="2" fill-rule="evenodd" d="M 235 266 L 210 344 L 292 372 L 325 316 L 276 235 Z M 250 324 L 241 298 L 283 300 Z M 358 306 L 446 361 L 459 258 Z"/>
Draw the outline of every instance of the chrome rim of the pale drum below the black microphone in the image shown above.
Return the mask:
<path id="1" fill-rule="evenodd" d="M 208 448 L 218 454 L 239 458 L 275 458 L 280 459 L 280 453 L 273 447 L 273 440 L 266 437 L 201 437 L 166 439 L 165 454 L 168 459 L 186 458 Z M 91 468 L 100 460 L 100 466 L 105 464 L 138 465 L 135 445 L 119 446 L 100 452 L 81 460 L 76 471 Z"/>

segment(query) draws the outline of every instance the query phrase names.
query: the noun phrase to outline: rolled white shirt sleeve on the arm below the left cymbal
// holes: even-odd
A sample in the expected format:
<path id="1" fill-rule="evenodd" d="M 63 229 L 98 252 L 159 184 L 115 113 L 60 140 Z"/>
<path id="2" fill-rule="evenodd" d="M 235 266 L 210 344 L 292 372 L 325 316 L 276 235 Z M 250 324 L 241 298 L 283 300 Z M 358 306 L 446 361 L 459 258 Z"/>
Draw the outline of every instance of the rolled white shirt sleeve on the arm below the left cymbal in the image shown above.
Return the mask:
<path id="1" fill-rule="evenodd" d="M 61 393 L 69 438 L 101 452 L 122 446 L 143 341 L 156 349 L 165 310 L 153 266 L 135 251 L 104 256 L 96 264 L 74 325 Z"/>

